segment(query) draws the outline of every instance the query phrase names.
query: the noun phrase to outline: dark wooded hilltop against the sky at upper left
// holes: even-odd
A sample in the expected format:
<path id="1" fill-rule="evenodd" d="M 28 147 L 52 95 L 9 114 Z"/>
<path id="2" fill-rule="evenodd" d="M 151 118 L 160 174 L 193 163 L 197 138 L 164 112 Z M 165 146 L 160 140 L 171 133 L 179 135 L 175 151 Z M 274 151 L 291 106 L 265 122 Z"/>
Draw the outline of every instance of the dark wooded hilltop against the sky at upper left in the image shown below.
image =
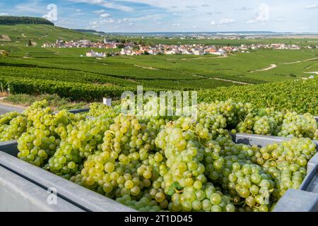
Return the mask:
<path id="1" fill-rule="evenodd" d="M 13 24 L 47 24 L 54 25 L 51 21 L 45 18 L 37 18 L 30 16 L 0 16 L 0 25 Z"/>

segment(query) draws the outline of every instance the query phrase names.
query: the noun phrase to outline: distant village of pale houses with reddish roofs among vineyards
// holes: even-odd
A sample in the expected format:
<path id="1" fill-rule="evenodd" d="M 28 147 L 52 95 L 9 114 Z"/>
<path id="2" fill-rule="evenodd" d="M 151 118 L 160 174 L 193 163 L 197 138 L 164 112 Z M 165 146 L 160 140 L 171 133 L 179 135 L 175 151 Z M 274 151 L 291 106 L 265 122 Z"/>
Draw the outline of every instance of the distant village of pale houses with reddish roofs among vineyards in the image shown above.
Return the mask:
<path id="1" fill-rule="evenodd" d="M 240 46 L 216 46 L 206 44 L 137 44 L 136 42 L 115 42 L 106 40 L 103 42 L 91 42 L 90 40 L 64 41 L 57 40 L 55 43 L 45 43 L 42 47 L 54 48 L 92 48 L 86 52 L 86 57 L 112 57 L 115 55 L 171 55 L 186 54 L 203 56 L 208 54 L 226 56 L 232 52 L 249 53 L 255 49 L 300 49 L 295 44 L 242 44 Z M 97 52 L 98 49 L 120 49 L 117 52 Z M 304 47 L 302 47 L 304 48 Z M 318 46 L 307 46 L 307 49 L 318 48 Z M 83 57 L 83 55 L 81 55 Z"/>

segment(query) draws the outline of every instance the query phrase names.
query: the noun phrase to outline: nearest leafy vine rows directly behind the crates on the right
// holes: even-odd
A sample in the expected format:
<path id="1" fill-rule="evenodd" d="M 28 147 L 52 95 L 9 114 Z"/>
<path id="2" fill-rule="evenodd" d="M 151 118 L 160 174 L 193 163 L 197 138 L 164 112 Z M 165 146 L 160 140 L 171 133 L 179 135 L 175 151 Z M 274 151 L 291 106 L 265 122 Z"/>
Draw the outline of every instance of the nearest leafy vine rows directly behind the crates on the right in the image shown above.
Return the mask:
<path id="1" fill-rule="evenodd" d="M 227 100 L 250 102 L 255 107 L 292 109 L 295 112 L 318 114 L 318 78 L 259 85 L 216 88 L 199 93 L 200 101 Z"/>

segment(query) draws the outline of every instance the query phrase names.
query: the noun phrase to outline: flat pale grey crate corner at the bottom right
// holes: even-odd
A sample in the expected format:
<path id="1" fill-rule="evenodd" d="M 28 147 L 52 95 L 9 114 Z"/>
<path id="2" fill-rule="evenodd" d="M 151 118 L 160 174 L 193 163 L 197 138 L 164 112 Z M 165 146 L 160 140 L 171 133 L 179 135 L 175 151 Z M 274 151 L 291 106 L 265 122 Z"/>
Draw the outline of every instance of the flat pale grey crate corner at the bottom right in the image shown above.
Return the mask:
<path id="1" fill-rule="evenodd" d="M 318 194 L 288 189 L 276 203 L 273 212 L 318 212 Z"/>

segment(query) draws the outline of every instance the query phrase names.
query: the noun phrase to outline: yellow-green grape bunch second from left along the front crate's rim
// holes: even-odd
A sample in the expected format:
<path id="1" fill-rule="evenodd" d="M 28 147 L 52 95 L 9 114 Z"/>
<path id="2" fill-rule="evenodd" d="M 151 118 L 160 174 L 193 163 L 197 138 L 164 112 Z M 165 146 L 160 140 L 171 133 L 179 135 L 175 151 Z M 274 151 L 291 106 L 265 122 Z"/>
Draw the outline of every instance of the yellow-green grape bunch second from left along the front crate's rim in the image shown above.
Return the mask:
<path id="1" fill-rule="evenodd" d="M 67 179 L 81 170 L 86 157 L 101 150 L 103 133 L 112 121 L 102 118 L 85 121 L 82 117 L 73 121 L 73 124 L 65 124 L 56 129 L 60 138 L 59 147 L 46 165 L 51 172 Z"/>

